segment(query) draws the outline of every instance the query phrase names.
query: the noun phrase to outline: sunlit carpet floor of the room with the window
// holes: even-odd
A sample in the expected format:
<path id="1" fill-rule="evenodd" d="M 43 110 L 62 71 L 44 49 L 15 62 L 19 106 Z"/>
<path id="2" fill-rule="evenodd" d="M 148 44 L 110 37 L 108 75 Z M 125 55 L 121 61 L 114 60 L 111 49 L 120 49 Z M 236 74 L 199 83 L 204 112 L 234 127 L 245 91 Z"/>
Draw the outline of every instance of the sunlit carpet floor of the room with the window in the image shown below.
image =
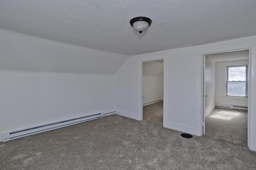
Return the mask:
<path id="1" fill-rule="evenodd" d="M 205 121 L 205 135 L 247 146 L 247 111 L 216 108 Z"/>

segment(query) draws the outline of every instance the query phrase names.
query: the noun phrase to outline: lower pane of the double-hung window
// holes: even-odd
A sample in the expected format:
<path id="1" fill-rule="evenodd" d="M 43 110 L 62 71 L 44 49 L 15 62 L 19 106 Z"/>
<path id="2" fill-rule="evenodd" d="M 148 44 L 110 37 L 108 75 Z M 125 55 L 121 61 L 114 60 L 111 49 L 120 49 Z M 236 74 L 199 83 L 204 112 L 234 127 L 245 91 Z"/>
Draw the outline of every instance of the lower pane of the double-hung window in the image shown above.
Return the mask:
<path id="1" fill-rule="evenodd" d="M 228 82 L 228 96 L 246 96 L 246 82 Z"/>

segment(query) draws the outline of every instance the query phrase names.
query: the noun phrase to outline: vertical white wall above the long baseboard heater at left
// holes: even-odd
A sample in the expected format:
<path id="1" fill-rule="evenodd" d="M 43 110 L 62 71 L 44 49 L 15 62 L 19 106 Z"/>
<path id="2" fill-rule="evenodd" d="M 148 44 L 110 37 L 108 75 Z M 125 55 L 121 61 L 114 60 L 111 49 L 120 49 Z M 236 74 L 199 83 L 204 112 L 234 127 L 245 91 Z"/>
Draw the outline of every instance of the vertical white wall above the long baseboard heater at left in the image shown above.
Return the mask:
<path id="1" fill-rule="evenodd" d="M 0 133 L 114 109 L 114 75 L 0 72 Z"/>

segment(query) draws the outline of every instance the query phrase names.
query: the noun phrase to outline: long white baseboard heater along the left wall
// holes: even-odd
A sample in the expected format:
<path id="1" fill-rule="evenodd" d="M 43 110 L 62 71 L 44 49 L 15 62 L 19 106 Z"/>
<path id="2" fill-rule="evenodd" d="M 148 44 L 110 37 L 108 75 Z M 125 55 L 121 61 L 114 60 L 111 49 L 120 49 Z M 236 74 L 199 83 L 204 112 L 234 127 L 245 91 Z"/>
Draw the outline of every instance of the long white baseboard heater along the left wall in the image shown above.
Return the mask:
<path id="1" fill-rule="evenodd" d="M 96 113 L 94 115 L 88 115 L 88 116 L 79 117 L 79 118 L 75 118 L 75 119 L 70 119 L 70 120 L 66 120 L 66 121 L 60 121 L 60 122 L 51 123 L 51 124 L 48 124 L 48 125 L 33 127 L 33 128 L 29 128 L 29 129 L 20 130 L 20 131 L 14 131 L 14 132 L 10 132 L 10 133 L 3 133 L 3 142 L 10 141 L 12 139 L 18 139 L 20 137 L 34 135 L 36 133 L 42 133 L 42 132 L 45 132 L 45 131 L 58 129 L 58 128 L 61 128 L 61 127 L 74 125 L 74 124 L 77 124 L 77 123 L 82 123 L 82 122 L 85 122 L 85 121 L 98 119 L 98 118 L 104 117 L 106 115 L 111 115 L 111 114 L 114 114 L 114 113 L 115 113 L 115 111 L 109 111 L 109 112 L 104 112 L 104 113 Z"/>

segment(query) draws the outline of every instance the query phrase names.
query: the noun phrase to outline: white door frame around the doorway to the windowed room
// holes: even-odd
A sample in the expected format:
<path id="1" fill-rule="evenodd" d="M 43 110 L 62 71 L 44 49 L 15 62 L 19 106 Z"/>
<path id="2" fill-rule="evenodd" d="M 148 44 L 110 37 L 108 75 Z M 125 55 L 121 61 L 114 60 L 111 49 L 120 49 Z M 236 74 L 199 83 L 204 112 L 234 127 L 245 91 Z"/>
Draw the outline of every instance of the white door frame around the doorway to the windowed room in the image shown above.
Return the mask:
<path id="1" fill-rule="evenodd" d="M 211 52 L 211 53 L 202 53 L 202 135 L 205 134 L 205 59 L 206 55 L 210 54 L 217 54 L 217 53 L 225 53 L 225 52 L 235 52 L 235 51 L 242 51 L 242 50 L 249 50 L 249 64 L 248 64 L 248 87 L 247 87 L 247 92 L 248 92 L 248 117 L 247 117 L 247 146 L 249 147 L 249 142 L 250 142 L 250 80 L 251 80 L 251 61 L 252 61 L 252 55 L 251 51 L 252 49 L 249 48 L 242 48 L 242 49 L 232 49 L 232 50 L 226 50 L 226 51 L 216 51 L 216 52 Z"/>

